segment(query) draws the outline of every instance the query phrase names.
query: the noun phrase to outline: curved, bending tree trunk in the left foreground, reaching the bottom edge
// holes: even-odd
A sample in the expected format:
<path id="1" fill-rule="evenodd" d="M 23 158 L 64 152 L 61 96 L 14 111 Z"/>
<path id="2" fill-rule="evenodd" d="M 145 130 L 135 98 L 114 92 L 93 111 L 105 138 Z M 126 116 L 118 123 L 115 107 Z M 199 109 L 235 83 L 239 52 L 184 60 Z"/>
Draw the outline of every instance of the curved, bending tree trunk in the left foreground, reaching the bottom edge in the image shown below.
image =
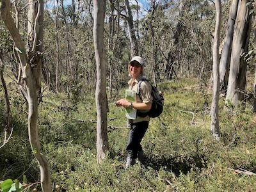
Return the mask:
<path id="1" fill-rule="evenodd" d="M 40 6 L 44 6 L 44 1 L 39 1 Z M 38 73 L 38 70 L 40 67 L 31 68 L 31 63 L 33 65 L 40 65 L 40 54 L 34 54 L 33 59 L 28 60 L 28 56 L 26 54 L 24 43 L 22 42 L 22 38 L 20 37 L 19 30 L 16 28 L 15 23 L 12 19 L 12 15 L 10 13 L 10 1 L 8 0 L 1 0 L 0 1 L 1 6 L 1 17 L 4 21 L 5 26 L 10 31 L 10 34 L 13 38 L 13 42 L 15 44 L 17 54 L 19 56 L 20 61 L 20 68 L 22 70 L 22 83 L 20 83 L 20 89 L 24 93 L 24 96 L 26 97 L 29 105 L 28 109 L 28 132 L 29 132 L 29 142 L 31 145 L 31 148 L 33 150 L 33 154 L 36 157 L 36 160 L 38 161 L 38 164 L 40 166 L 40 173 L 41 173 L 41 186 L 42 191 L 44 192 L 51 192 L 51 178 L 50 178 L 50 172 L 49 172 L 49 165 L 47 163 L 47 159 L 43 152 L 41 151 L 40 141 L 38 138 L 38 79 L 40 77 L 35 76 L 35 74 L 40 75 L 41 73 Z M 42 8 L 38 8 L 39 10 L 42 10 Z M 40 13 L 38 13 L 38 16 L 40 16 Z M 42 16 L 42 15 L 41 15 Z M 38 17 L 37 17 L 38 19 Z M 36 22 L 35 22 L 36 24 Z M 35 28 L 36 29 L 36 28 Z M 34 30 L 35 30 L 34 29 Z M 36 35 L 36 33 L 35 33 Z M 34 45 L 33 47 L 36 47 L 36 39 L 34 36 Z M 34 49 L 34 48 L 33 48 Z M 32 49 L 32 50 L 33 50 Z"/>

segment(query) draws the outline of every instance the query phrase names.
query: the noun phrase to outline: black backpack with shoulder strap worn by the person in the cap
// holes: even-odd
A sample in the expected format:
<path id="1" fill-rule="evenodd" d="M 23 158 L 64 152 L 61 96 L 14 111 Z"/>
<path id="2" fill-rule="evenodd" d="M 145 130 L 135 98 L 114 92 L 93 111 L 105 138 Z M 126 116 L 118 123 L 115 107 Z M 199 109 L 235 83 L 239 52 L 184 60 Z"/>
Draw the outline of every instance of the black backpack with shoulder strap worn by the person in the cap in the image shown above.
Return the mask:
<path id="1" fill-rule="evenodd" d="M 140 80 L 138 83 L 138 90 L 137 90 L 137 94 L 139 95 L 140 99 L 140 87 L 141 87 L 141 83 L 143 81 L 147 81 L 146 79 Z M 143 113 L 138 111 L 137 115 L 141 116 L 141 117 L 145 117 L 145 116 L 150 116 L 152 118 L 157 117 L 159 115 L 161 115 L 161 113 L 163 112 L 163 108 L 164 108 L 164 94 L 163 93 L 159 93 L 159 91 L 157 90 L 156 86 L 152 85 L 152 92 L 151 95 L 153 97 L 153 102 L 152 102 L 152 107 L 151 109 L 147 112 L 147 113 Z"/>

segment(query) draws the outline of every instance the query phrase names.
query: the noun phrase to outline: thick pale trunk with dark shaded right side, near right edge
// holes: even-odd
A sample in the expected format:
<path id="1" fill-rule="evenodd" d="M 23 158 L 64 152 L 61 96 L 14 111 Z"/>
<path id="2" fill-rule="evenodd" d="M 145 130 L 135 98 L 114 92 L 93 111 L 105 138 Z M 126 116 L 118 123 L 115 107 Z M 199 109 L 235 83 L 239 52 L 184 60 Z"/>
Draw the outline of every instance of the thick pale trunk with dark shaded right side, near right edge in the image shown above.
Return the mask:
<path id="1" fill-rule="evenodd" d="M 247 63 L 244 60 L 243 52 L 248 51 L 252 19 L 250 8 L 251 6 L 248 4 L 247 0 L 242 0 L 239 2 L 237 19 L 234 28 L 226 103 L 232 102 L 236 108 L 244 99 L 244 91 L 246 86 Z"/>

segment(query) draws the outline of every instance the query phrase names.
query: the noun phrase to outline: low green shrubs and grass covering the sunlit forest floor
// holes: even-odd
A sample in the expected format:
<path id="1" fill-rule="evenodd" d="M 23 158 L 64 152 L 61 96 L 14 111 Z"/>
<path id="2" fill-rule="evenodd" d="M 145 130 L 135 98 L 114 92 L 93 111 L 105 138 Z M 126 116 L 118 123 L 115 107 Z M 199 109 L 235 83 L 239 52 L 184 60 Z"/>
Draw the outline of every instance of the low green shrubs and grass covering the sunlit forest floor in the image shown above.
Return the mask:
<path id="1" fill-rule="evenodd" d="M 224 110 L 224 98 L 220 100 L 221 139 L 216 141 L 210 130 L 212 98 L 207 87 L 190 78 L 160 83 L 158 88 L 164 92 L 164 112 L 150 121 L 141 142 L 145 164 L 127 170 L 129 129 L 124 109 L 112 104 L 125 90 L 109 99 L 110 150 L 100 164 L 94 91 L 76 99 L 45 91 L 38 126 L 54 191 L 253 191 L 256 116 L 250 100 L 246 108 L 236 111 L 228 110 L 229 106 Z M 28 140 L 26 103 L 14 86 L 10 92 L 13 134 L 0 149 L 0 180 L 23 182 L 26 175 L 30 189 L 40 191 L 40 170 Z M 1 141 L 3 137 L 1 132 Z"/>

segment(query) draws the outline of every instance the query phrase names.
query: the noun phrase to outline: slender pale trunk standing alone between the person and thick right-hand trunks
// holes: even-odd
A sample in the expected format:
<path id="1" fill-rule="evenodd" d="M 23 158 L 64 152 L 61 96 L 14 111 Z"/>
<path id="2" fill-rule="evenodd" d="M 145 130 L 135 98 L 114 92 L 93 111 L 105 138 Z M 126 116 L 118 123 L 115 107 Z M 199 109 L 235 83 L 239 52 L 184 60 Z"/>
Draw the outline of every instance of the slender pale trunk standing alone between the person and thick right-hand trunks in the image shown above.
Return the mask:
<path id="1" fill-rule="evenodd" d="M 216 139 L 220 138 L 219 127 L 219 95 L 220 95 L 220 74 L 219 74 L 219 45 L 220 45 L 220 28 L 221 28 L 221 2 L 215 1 L 216 7 L 216 24 L 214 31 L 214 40 L 212 47 L 212 74 L 213 74 L 213 93 L 211 106 L 211 131 L 212 136 Z"/>

